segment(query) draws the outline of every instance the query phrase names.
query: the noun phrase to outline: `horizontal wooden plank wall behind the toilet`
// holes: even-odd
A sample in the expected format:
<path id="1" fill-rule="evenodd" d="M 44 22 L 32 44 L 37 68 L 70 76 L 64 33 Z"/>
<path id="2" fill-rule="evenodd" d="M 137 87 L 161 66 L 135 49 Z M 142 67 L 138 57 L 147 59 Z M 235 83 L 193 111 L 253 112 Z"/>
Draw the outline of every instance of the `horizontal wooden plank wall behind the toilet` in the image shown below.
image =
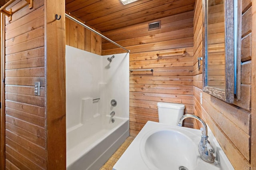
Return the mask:
<path id="1" fill-rule="evenodd" d="M 148 31 L 148 23 L 136 24 L 103 34 L 130 49 L 130 69 L 154 72 L 130 73 L 130 135 L 136 136 L 147 121 L 158 122 L 158 102 L 182 103 L 185 113 L 193 113 L 193 15 L 194 11 L 161 19 L 161 29 Z M 161 55 L 186 48 L 182 53 Z M 103 40 L 102 54 L 125 53 Z M 193 127 L 186 119 L 187 127 Z"/>

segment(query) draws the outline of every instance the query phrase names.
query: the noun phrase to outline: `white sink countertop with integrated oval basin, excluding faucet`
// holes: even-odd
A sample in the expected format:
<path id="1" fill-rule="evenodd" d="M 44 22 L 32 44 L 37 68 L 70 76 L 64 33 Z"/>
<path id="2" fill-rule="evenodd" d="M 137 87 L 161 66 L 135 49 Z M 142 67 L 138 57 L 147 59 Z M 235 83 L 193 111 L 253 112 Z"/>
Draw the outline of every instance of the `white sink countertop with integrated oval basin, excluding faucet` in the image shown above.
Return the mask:
<path id="1" fill-rule="evenodd" d="M 218 159 L 212 164 L 200 158 L 200 130 L 148 121 L 113 170 L 233 170 L 210 133 L 208 139 Z"/>

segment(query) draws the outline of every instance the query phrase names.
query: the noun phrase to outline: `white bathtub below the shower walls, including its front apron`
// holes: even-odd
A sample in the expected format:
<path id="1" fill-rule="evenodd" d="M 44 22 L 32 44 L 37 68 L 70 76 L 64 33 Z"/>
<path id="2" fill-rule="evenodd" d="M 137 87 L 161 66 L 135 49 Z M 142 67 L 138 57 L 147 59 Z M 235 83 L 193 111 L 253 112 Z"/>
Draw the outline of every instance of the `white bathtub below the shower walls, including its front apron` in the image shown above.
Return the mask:
<path id="1" fill-rule="evenodd" d="M 98 170 L 129 136 L 129 119 L 98 116 L 67 130 L 67 170 Z"/>

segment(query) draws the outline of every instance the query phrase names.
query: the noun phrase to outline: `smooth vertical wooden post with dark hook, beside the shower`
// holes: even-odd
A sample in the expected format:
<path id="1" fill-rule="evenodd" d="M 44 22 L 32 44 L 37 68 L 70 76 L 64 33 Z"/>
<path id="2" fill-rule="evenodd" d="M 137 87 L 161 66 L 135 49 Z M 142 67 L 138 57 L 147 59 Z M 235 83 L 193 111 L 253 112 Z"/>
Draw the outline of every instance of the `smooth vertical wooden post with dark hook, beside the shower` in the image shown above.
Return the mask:
<path id="1" fill-rule="evenodd" d="M 65 1 L 44 0 L 46 169 L 66 169 Z"/>

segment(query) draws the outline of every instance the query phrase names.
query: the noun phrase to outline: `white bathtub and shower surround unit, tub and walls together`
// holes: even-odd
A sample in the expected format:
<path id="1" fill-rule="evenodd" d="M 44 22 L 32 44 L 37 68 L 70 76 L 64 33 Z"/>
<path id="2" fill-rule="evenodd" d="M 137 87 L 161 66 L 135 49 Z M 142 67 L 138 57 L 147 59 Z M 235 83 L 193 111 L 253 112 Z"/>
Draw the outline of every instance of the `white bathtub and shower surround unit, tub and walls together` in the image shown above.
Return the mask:
<path id="1" fill-rule="evenodd" d="M 111 56 L 66 45 L 68 170 L 99 169 L 129 135 L 129 53 Z"/>

